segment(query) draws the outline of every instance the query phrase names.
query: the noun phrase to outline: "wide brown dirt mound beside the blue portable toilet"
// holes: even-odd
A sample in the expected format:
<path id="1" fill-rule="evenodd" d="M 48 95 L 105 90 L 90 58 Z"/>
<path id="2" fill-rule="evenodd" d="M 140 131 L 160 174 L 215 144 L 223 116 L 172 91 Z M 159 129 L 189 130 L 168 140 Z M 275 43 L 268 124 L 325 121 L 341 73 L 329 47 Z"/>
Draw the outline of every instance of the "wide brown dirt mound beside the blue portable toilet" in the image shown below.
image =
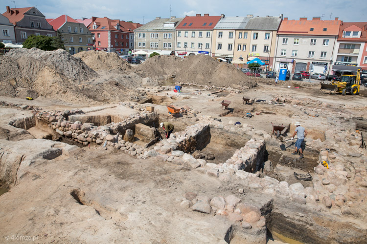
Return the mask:
<path id="1" fill-rule="evenodd" d="M 164 79 L 164 76 L 176 75 L 175 81 L 232 86 L 239 84 L 256 86 L 256 81 L 242 71 L 225 62 L 218 62 L 207 55 L 188 56 L 185 59 L 176 56 L 155 56 L 142 63 L 138 70 L 141 76 Z M 162 77 L 163 76 L 163 77 Z"/>

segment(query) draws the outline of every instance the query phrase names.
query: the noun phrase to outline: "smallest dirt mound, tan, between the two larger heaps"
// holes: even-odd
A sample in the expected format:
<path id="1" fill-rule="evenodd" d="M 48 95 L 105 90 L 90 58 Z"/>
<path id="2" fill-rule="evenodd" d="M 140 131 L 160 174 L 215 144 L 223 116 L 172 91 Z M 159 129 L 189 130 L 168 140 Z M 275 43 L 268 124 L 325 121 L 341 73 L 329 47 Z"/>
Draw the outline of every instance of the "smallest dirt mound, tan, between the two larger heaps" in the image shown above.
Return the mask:
<path id="1" fill-rule="evenodd" d="M 94 70 L 110 70 L 114 73 L 119 73 L 131 69 L 130 64 L 118 57 L 116 53 L 88 51 L 80 52 L 73 56 L 80 58 Z"/>

